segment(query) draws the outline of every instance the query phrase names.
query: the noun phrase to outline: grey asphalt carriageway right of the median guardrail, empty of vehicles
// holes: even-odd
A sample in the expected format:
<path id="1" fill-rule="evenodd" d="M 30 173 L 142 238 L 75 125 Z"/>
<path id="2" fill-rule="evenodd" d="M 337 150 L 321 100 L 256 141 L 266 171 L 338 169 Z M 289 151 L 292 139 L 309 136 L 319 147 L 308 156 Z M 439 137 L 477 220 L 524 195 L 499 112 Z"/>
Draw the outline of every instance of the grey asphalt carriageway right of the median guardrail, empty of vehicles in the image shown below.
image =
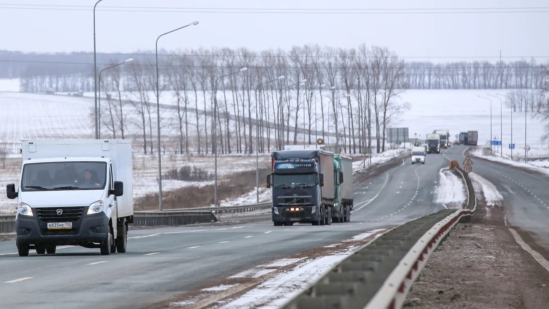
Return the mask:
<path id="1" fill-rule="evenodd" d="M 461 165 L 466 147 L 457 146 L 456 150 L 460 148 L 461 151 L 446 153 L 446 157 Z M 472 160 L 473 173 L 489 180 L 503 196 L 507 222 L 528 233 L 542 249 L 549 250 L 549 175 L 475 157 Z"/>

